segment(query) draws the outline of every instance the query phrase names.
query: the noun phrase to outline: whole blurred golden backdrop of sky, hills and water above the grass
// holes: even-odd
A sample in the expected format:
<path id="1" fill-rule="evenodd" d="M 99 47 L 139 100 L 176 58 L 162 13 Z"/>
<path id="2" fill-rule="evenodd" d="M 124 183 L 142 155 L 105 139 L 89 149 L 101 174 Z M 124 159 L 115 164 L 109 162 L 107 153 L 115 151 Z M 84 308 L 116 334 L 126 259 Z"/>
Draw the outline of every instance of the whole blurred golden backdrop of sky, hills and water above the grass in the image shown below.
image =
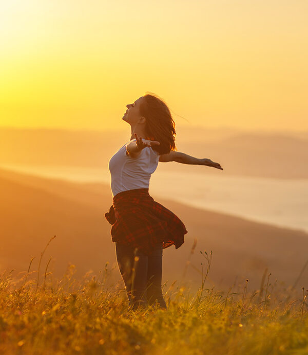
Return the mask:
<path id="1" fill-rule="evenodd" d="M 301 0 L 2 3 L 0 269 L 20 277 L 36 256 L 35 275 L 56 235 L 48 277 L 109 262 L 121 285 L 108 161 L 130 139 L 126 104 L 152 92 L 178 150 L 224 168 L 153 174 L 153 198 L 188 230 L 164 250 L 163 281 L 196 289 L 212 250 L 208 286 L 258 288 L 271 272 L 307 287 L 307 12 Z"/>

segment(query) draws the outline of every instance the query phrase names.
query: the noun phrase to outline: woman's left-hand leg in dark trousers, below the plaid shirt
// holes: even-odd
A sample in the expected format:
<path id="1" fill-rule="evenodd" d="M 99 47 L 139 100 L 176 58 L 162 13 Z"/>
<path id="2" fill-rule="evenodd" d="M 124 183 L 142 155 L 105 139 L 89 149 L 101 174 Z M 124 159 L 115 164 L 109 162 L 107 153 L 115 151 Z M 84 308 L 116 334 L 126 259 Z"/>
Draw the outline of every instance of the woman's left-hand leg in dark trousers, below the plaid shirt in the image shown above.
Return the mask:
<path id="1" fill-rule="evenodd" d="M 115 253 L 128 296 L 129 306 L 146 306 L 148 257 L 133 247 L 115 242 Z"/>

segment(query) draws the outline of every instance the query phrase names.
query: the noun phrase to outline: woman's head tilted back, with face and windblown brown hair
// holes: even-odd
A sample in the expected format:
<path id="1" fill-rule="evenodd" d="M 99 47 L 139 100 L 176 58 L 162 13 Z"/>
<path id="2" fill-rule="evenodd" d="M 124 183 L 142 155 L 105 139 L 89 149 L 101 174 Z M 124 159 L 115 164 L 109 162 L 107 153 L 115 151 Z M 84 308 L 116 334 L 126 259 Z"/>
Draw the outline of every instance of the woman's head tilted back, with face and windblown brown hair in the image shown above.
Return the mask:
<path id="1" fill-rule="evenodd" d="M 176 150 L 175 122 L 166 103 L 156 95 L 145 94 L 134 103 L 128 104 L 123 119 L 130 125 L 144 125 L 146 139 L 157 140 L 160 145 L 153 146 L 159 154 Z"/>

